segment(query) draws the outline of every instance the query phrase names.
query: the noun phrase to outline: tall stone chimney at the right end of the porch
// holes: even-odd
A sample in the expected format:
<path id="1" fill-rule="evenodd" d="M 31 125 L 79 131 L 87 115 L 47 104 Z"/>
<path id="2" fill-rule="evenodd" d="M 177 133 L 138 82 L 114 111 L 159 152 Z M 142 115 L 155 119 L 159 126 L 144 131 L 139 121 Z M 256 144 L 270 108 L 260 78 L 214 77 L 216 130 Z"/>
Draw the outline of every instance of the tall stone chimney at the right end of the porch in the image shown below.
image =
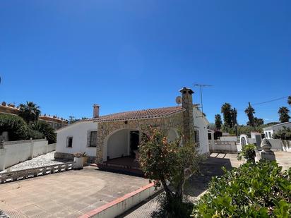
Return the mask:
<path id="1" fill-rule="evenodd" d="M 194 144 L 194 118 L 193 118 L 193 100 L 191 89 L 183 87 L 179 90 L 182 93 L 182 107 L 186 109 L 183 112 L 184 143 Z"/>

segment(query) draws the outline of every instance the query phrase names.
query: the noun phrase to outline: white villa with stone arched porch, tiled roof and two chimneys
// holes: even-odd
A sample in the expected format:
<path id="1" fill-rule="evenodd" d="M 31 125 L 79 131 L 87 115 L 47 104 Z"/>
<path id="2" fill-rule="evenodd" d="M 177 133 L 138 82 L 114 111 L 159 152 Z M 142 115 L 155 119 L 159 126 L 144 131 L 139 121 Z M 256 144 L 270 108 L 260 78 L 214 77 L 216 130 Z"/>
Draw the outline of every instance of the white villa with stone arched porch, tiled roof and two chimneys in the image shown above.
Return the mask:
<path id="1" fill-rule="evenodd" d="M 93 118 L 78 121 L 57 130 L 55 158 L 72 159 L 73 153 L 85 152 L 90 162 L 104 163 L 110 159 L 134 159 L 148 125 L 165 131 L 169 140 L 182 131 L 183 142 L 196 143 L 198 152 L 208 154 L 208 121 L 192 103 L 191 89 L 184 87 L 182 106 L 126 111 L 99 116 L 100 107 L 93 105 Z"/>

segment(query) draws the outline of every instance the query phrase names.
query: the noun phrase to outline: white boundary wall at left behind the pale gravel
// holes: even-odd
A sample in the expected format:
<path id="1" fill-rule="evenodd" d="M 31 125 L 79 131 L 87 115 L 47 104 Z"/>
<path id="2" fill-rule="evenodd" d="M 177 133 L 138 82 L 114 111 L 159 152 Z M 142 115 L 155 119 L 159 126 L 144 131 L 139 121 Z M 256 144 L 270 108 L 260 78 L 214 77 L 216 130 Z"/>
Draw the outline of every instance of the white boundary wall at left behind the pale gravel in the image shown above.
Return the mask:
<path id="1" fill-rule="evenodd" d="M 56 150 L 56 144 L 48 145 L 44 139 L 4 142 L 0 149 L 0 171 L 53 150 Z"/>

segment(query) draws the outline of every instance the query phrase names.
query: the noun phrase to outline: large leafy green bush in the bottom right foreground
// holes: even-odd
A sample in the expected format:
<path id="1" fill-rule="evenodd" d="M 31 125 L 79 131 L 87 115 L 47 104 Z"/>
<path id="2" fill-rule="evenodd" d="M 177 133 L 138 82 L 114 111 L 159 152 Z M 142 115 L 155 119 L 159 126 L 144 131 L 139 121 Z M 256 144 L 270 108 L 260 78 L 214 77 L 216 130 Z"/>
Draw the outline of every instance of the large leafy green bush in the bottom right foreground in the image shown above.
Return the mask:
<path id="1" fill-rule="evenodd" d="M 262 161 L 225 172 L 210 182 L 192 217 L 290 217 L 290 169 Z"/>

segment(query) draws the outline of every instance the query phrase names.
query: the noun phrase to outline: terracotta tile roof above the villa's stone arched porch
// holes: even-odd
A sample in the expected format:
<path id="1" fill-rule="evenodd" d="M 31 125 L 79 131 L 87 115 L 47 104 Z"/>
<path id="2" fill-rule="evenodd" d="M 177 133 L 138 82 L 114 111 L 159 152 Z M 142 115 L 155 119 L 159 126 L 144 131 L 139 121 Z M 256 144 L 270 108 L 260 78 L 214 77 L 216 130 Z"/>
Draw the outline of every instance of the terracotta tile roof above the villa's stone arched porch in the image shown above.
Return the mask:
<path id="1" fill-rule="evenodd" d="M 159 117 L 169 116 L 178 112 L 182 112 L 185 109 L 181 106 L 177 107 L 162 107 L 157 109 L 143 109 L 138 111 L 126 111 L 117 114 L 109 114 L 105 116 L 99 116 L 95 119 L 87 119 L 83 121 L 95 121 L 98 123 L 109 121 L 126 121 L 134 119 L 153 119 Z"/>

